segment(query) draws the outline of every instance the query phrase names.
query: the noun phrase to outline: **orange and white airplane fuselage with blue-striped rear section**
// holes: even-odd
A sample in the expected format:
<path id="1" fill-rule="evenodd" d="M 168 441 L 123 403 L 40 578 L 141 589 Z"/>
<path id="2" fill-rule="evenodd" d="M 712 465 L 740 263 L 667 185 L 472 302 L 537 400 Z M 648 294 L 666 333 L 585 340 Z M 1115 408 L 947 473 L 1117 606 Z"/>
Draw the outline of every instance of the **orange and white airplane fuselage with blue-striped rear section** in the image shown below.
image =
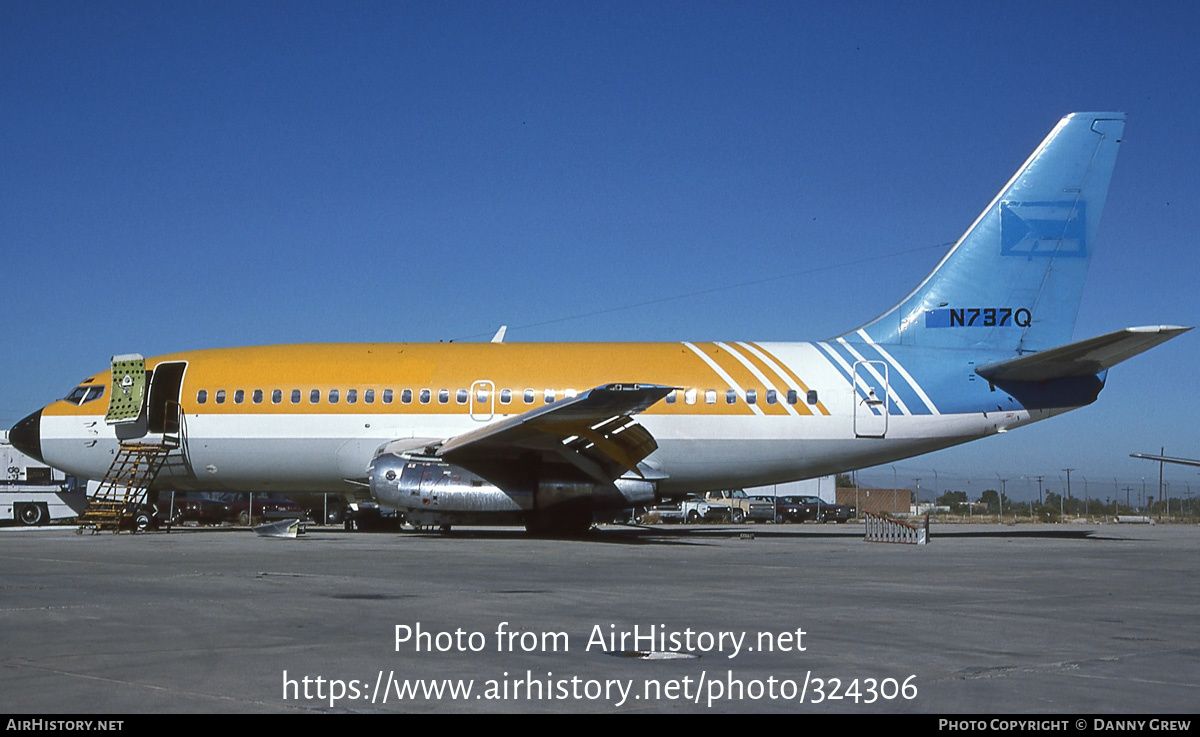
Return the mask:
<path id="1" fill-rule="evenodd" d="M 978 361 L 845 341 L 364 343 L 196 350 L 146 367 L 184 364 L 187 463 L 164 468 L 163 489 L 352 491 L 385 443 L 455 437 L 636 378 L 678 388 L 638 415 L 658 442 L 644 465 L 674 496 L 883 463 L 1066 408 L 1022 406 L 976 376 Z M 109 373 L 89 384 L 110 390 Z M 48 463 L 101 478 L 120 441 L 154 439 L 144 421 L 107 425 L 104 399 L 42 412 Z"/>

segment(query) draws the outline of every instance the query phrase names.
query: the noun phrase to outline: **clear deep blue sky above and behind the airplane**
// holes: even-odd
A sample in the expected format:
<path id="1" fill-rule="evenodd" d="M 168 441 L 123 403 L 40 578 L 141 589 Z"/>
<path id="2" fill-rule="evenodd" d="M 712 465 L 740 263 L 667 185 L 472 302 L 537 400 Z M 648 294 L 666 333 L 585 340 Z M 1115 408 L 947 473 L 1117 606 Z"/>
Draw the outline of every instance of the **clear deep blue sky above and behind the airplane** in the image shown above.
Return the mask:
<path id="1" fill-rule="evenodd" d="M 828 337 L 906 294 L 1085 109 L 1129 120 L 1076 338 L 1198 324 L 1198 16 L 2 0 L 0 424 L 114 353 L 500 324 Z M 1157 483 L 1128 454 L 1200 456 L 1198 356 L 1189 334 L 1114 370 L 1092 407 L 871 480 Z M 1200 493 L 1194 469 L 1168 478 Z"/>

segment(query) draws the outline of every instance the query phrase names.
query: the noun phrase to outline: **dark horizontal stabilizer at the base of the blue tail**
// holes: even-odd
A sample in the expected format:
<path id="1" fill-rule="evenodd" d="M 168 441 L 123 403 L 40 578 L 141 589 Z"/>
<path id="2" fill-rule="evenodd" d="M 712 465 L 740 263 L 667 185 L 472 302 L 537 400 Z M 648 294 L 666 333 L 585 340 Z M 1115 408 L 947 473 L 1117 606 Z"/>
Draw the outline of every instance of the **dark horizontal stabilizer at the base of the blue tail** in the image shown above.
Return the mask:
<path id="1" fill-rule="evenodd" d="M 976 373 L 990 382 L 1049 382 L 1075 376 L 1094 376 L 1190 329 L 1178 325 L 1126 328 L 1085 341 L 979 366 Z"/>

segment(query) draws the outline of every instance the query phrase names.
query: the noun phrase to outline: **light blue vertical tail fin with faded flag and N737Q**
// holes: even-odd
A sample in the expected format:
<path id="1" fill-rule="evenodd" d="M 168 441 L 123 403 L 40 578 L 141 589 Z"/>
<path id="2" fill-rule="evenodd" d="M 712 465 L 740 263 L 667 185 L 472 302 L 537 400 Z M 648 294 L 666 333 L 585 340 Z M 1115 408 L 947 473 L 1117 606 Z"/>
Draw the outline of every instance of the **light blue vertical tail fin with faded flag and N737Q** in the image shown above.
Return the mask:
<path id="1" fill-rule="evenodd" d="M 1123 130 L 1123 113 L 1060 120 L 932 274 L 860 330 L 1018 353 L 1070 341 Z"/>

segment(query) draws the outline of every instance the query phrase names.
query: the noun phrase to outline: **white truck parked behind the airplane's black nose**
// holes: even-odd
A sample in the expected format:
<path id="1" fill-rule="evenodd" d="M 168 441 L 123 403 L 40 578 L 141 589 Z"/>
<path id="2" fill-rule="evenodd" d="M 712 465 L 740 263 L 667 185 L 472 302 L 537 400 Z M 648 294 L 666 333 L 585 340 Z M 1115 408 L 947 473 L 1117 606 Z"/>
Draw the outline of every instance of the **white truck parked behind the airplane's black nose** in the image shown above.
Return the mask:
<path id="1" fill-rule="evenodd" d="M 71 520 L 88 507 L 88 490 L 82 481 L 67 478 L 20 453 L 0 437 L 0 521 L 46 525 Z"/>

